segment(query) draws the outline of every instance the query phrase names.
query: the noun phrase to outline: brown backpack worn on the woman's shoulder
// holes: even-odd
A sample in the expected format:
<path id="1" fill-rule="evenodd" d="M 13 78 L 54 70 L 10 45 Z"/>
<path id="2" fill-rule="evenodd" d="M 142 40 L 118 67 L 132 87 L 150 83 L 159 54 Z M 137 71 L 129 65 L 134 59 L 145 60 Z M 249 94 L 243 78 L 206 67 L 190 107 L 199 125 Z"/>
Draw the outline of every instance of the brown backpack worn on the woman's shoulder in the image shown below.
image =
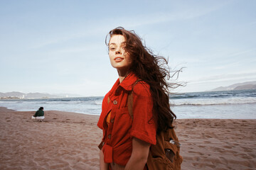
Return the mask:
<path id="1" fill-rule="evenodd" d="M 127 98 L 129 115 L 132 113 L 132 91 Z M 146 166 L 149 170 L 180 170 L 183 158 L 180 153 L 181 144 L 174 132 L 174 128 L 156 134 L 156 145 L 151 145 Z"/>

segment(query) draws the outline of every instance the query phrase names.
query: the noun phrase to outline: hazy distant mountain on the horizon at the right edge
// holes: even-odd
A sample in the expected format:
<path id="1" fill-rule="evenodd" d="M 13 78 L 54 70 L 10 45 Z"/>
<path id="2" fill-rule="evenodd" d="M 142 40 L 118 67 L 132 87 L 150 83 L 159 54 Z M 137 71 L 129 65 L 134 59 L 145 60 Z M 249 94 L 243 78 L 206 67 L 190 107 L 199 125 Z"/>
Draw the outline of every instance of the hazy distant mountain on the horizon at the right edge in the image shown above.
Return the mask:
<path id="1" fill-rule="evenodd" d="M 238 84 L 232 84 L 230 86 L 220 86 L 210 91 L 230 91 L 230 90 L 248 90 L 256 89 L 256 81 L 247 81 Z"/>

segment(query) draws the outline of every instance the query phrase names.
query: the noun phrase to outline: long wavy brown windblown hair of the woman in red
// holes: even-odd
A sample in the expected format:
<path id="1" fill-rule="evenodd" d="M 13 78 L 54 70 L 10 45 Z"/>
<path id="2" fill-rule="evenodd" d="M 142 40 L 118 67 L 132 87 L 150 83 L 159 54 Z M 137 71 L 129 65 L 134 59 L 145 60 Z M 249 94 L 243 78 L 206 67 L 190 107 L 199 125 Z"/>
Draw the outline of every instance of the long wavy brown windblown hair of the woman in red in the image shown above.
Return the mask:
<path id="1" fill-rule="evenodd" d="M 144 46 L 142 39 L 134 30 L 129 31 L 122 27 L 110 30 L 105 39 L 107 46 L 112 35 L 124 35 L 126 39 L 124 50 L 132 60 L 129 71 L 134 72 L 139 79 L 150 86 L 157 132 L 172 128 L 176 115 L 170 108 L 169 89 L 176 87 L 177 84 L 171 84 L 167 81 L 171 77 L 167 60 L 164 57 L 154 55 L 149 48 Z"/>

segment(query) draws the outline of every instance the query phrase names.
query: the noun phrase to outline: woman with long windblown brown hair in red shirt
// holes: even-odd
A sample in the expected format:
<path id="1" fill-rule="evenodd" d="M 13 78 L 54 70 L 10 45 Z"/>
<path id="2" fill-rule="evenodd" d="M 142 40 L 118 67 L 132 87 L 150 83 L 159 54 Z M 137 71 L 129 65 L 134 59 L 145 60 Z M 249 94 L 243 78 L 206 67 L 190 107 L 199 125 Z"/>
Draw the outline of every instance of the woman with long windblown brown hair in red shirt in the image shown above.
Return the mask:
<path id="1" fill-rule="evenodd" d="M 176 118 L 169 106 L 169 67 L 133 31 L 119 27 L 109 35 L 110 63 L 119 79 L 102 101 L 97 124 L 103 130 L 100 169 L 146 169 L 156 132 L 169 128 Z M 133 118 L 127 107 L 131 93 Z"/>

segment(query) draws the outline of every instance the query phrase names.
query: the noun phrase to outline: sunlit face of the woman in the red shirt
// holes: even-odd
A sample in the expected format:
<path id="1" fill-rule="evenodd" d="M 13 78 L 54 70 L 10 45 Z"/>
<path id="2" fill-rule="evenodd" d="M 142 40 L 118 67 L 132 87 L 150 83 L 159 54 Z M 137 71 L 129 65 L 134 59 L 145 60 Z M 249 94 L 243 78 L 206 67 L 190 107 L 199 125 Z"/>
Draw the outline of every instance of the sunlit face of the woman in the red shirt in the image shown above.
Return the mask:
<path id="1" fill-rule="evenodd" d="M 125 38 L 124 35 L 112 35 L 109 43 L 109 55 L 112 67 L 116 68 L 121 74 L 127 74 L 132 60 L 125 52 Z"/>

